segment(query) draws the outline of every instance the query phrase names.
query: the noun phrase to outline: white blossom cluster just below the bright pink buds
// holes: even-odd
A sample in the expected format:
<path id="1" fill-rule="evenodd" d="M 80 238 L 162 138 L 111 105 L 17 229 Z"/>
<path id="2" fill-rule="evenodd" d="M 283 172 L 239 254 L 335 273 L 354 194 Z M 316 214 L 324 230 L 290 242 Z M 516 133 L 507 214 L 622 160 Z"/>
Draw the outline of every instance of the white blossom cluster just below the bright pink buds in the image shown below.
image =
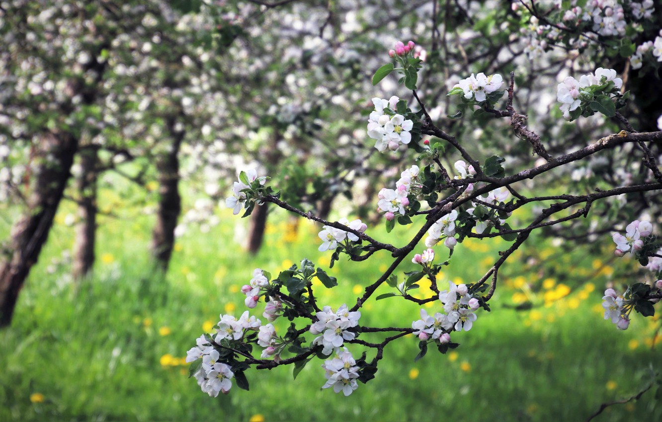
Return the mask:
<path id="1" fill-rule="evenodd" d="M 367 130 L 368 136 L 377 140 L 375 148 L 379 152 L 396 151 L 401 145 L 409 144 L 414 122 L 395 112 L 400 99 L 394 95 L 389 100 L 375 97 L 372 101 L 375 110 L 370 113 Z"/>

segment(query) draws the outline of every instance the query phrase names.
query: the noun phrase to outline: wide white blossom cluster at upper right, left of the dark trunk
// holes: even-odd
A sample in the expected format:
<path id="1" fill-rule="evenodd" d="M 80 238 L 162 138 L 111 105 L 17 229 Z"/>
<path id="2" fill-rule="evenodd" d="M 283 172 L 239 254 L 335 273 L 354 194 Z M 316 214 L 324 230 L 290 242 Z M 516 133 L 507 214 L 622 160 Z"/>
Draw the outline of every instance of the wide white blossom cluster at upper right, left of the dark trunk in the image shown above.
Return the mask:
<path id="1" fill-rule="evenodd" d="M 616 77 L 616 71 L 614 69 L 598 67 L 595 70 L 595 75 L 593 73 L 582 75 L 579 81 L 571 76 L 566 77 L 563 82 L 557 85 L 556 93 L 557 100 L 561 103 L 559 110 L 563 112 L 563 118 L 571 120 L 571 111 L 577 110 L 581 106 L 582 101 L 591 101 L 593 99 L 593 93 L 589 92 L 587 88 L 594 86 L 603 87 L 610 81 L 613 83 L 613 87 L 608 94 L 614 95 L 623 85 L 623 80 L 620 77 Z"/>

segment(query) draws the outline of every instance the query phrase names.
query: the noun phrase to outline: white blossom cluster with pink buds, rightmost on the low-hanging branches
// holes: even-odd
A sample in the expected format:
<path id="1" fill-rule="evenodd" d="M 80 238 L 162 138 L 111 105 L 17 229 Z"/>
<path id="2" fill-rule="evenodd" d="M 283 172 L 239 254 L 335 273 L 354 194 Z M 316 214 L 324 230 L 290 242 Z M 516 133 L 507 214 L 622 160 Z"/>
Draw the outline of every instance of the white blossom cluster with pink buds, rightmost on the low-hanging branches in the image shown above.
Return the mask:
<path id="1" fill-rule="evenodd" d="M 432 338 L 441 344 L 448 343 L 451 340 L 451 331 L 469 331 L 473 327 L 473 321 L 477 319 L 474 312 L 479 308 L 479 302 L 468 293 L 467 285 L 456 285 L 452 281 L 448 284 L 448 290 L 439 294 L 446 314 L 437 312 L 433 317 L 421 309 L 420 319 L 412 322 L 412 328 L 416 330 L 413 334 L 421 341 Z"/>

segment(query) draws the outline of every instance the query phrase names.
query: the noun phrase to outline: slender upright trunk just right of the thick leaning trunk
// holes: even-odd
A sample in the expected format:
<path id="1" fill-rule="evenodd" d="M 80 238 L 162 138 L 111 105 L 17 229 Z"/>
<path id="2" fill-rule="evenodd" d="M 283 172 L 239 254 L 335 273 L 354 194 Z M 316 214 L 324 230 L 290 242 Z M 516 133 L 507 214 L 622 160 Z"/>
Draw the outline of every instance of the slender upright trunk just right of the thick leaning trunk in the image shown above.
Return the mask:
<path id="1" fill-rule="evenodd" d="M 97 179 L 99 176 L 99 148 L 95 145 L 81 148 L 81 175 L 77 187 L 80 192 L 78 202 L 78 222 L 73 245 L 73 277 L 81 279 L 90 273 L 94 266 L 94 243 L 97 233 Z"/>

